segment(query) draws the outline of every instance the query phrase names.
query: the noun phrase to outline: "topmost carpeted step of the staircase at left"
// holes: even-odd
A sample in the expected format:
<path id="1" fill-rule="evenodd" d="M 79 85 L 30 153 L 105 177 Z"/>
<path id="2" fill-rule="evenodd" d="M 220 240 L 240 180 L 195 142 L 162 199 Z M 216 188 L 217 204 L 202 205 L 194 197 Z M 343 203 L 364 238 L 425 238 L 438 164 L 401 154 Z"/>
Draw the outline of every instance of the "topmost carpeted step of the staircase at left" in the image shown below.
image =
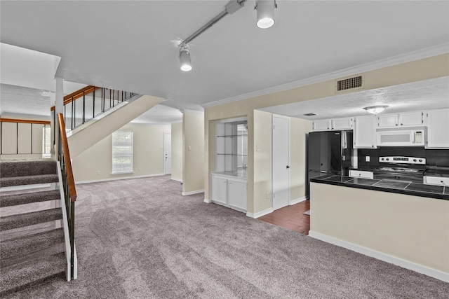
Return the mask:
<path id="1" fill-rule="evenodd" d="M 0 177 L 58 174 L 58 164 L 52 159 L 8 160 L 0 163 Z"/>

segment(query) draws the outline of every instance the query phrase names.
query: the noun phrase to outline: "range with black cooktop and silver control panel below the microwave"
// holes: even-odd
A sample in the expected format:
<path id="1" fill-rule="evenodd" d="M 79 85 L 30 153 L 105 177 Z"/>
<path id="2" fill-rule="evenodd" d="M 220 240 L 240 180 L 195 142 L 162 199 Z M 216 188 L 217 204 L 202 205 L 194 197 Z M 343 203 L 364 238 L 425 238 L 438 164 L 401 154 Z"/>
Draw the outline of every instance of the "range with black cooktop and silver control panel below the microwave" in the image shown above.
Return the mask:
<path id="1" fill-rule="evenodd" d="M 374 169 L 374 179 L 396 179 L 422 183 L 426 159 L 417 157 L 379 157 L 379 167 Z"/>

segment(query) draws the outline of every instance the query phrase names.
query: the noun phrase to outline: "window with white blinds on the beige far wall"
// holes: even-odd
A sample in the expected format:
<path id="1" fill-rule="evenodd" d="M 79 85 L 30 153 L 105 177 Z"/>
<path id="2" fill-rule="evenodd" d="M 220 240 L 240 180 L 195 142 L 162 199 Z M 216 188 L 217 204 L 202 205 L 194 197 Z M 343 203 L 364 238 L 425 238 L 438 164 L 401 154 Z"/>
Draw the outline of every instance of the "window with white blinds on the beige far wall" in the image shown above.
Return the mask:
<path id="1" fill-rule="evenodd" d="M 112 133 L 112 174 L 133 172 L 133 131 Z"/>

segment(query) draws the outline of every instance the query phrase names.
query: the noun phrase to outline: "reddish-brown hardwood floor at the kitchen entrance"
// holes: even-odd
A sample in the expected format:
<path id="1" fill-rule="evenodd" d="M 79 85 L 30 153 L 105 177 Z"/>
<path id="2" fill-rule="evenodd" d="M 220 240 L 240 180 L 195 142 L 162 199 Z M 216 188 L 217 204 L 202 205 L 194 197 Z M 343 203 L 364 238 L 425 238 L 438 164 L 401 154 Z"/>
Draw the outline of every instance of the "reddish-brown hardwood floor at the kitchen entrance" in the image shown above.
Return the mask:
<path id="1" fill-rule="evenodd" d="M 309 209 L 310 201 L 304 200 L 304 202 L 293 204 L 293 206 L 277 209 L 273 213 L 267 214 L 258 219 L 281 226 L 282 228 L 288 228 L 289 230 L 300 232 L 303 235 L 309 235 L 310 216 L 302 214 L 304 211 Z"/>

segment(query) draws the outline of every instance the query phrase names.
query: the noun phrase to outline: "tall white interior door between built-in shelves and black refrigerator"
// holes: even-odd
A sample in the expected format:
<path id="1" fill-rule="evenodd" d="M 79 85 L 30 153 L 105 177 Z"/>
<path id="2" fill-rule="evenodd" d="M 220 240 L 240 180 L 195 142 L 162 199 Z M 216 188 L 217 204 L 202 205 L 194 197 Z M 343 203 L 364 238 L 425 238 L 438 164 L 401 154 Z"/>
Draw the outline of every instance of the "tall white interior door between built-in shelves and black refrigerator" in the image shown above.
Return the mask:
<path id="1" fill-rule="evenodd" d="M 290 202 L 290 118 L 273 116 L 273 209 Z"/>

